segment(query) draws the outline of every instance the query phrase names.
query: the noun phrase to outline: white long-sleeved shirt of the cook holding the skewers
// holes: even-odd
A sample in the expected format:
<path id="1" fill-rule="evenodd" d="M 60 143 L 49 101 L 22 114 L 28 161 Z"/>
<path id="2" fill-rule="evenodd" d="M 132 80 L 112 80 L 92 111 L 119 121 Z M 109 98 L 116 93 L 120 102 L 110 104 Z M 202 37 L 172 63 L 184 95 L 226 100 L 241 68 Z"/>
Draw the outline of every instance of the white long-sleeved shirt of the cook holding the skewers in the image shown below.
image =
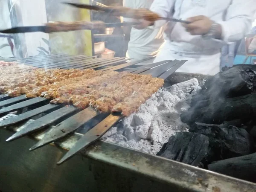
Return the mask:
<path id="1" fill-rule="evenodd" d="M 169 22 L 165 37 L 169 49 L 193 58 L 216 54 L 224 44 L 244 38 L 252 26 L 256 0 L 154 0 L 150 9 L 161 17 L 183 20 L 205 15 L 222 26 L 222 40 L 207 40 L 190 35 L 180 23 Z M 159 20 L 155 27 L 165 23 Z"/>

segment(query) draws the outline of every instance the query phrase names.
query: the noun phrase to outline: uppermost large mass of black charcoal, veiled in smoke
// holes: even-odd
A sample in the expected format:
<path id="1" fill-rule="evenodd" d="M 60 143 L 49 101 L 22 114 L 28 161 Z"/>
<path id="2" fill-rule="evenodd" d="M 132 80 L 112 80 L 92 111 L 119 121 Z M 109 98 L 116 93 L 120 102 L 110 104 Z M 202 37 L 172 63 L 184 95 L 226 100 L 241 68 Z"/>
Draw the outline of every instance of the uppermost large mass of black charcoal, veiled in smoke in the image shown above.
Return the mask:
<path id="1" fill-rule="evenodd" d="M 182 113 L 182 122 L 221 124 L 241 119 L 247 122 L 256 114 L 256 66 L 236 65 L 207 79 L 205 89 L 192 97 L 191 108 Z"/>

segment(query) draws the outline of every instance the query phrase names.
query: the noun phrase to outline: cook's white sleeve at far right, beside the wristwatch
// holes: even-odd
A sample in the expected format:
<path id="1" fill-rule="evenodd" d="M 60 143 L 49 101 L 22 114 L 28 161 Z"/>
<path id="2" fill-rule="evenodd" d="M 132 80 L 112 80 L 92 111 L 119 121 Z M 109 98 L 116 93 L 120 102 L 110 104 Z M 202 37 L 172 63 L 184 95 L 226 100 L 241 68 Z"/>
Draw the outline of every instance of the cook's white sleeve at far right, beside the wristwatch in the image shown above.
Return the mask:
<path id="1" fill-rule="evenodd" d="M 228 43 L 244 38 L 252 28 L 255 12 L 255 0 L 233 0 L 225 21 L 218 22 L 222 27 L 222 40 Z"/>

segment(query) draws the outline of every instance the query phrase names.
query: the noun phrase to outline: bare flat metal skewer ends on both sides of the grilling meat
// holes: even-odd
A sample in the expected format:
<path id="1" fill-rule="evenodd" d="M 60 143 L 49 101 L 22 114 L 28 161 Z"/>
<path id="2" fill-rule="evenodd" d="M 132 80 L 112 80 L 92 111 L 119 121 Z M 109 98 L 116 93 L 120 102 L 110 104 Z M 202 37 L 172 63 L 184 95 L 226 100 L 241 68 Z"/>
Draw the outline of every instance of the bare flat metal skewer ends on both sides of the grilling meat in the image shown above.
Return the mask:
<path id="1" fill-rule="evenodd" d="M 147 58 L 141 61 L 131 61 L 127 63 L 127 58 L 95 58 L 84 55 L 70 56 L 70 55 L 47 55 L 37 56 L 34 58 L 27 58 L 17 61 L 18 63 L 25 63 L 31 66 L 53 69 L 95 69 L 103 71 L 119 71 L 125 70 L 129 73 L 137 74 L 151 74 L 153 77 L 161 77 L 166 79 L 172 73 L 174 73 L 181 65 L 186 61 L 161 61 L 158 63 L 148 64 L 142 67 L 136 67 L 136 64 L 140 64 L 143 61 L 150 60 Z M 134 67 L 135 66 L 135 67 Z M 127 67 L 134 67 L 127 69 Z M 0 95 L 0 115 L 6 115 L 13 111 L 26 111 L 26 108 L 33 108 L 30 111 L 26 111 L 19 115 L 12 115 L 3 117 L 0 121 L 0 128 L 9 127 L 24 122 L 37 115 L 39 118 L 35 119 L 32 123 L 23 125 L 24 128 L 17 131 L 12 137 L 9 137 L 6 141 L 13 141 L 20 137 L 30 135 L 39 130 L 49 127 L 49 131 L 45 136 L 30 150 L 35 150 L 44 145 L 57 141 L 68 134 L 79 129 L 81 126 L 88 126 L 88 132 L 84 134 L 81 139 L 75 143 L 73 148 L 67 152 L 67 154 L 58 162 L 58 164 L 70 159 L 81 149 L 87 147 L 91 143 L 98 140 L 109 128 L 111 128 L 119 119 L 120 115 L 105 114 L 105 118 L 101 121 L 99 116 L 102 115 L 93 108 L 86 108 L 79 110 L 71 105 L 53 105 L 49 104 L 48 99 L 42 97 L 36 97 L 33 99 L 26 98 L 25 96 L 18 96 L 11 98 L 7 95 Z M 56 126 L 52 126 L 56 125 Z"/>

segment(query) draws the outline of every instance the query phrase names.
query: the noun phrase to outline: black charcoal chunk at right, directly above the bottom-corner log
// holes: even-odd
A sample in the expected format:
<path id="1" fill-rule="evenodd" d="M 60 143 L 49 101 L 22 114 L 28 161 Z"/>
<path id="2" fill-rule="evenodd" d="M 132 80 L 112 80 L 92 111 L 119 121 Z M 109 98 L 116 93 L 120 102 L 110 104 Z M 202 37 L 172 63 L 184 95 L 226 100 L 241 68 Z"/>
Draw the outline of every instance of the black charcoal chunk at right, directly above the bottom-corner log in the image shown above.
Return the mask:
<path id="1" fill-rule="evenodd" d="M 224 160 L 253 153 L 253 138 L 245 129 L 212 126 L 200 131 L 209 137 L 209 161 Z"/>

